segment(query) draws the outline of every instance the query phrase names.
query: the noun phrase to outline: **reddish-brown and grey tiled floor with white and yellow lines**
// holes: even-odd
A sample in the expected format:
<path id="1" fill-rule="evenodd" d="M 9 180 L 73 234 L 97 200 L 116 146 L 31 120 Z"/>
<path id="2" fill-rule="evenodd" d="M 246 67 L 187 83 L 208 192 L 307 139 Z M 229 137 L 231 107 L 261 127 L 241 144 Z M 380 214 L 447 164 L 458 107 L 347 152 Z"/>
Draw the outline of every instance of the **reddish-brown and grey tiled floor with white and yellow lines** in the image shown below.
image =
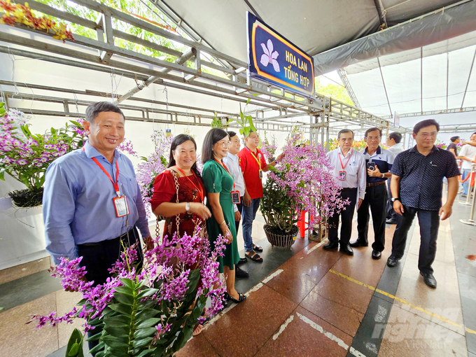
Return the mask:
<path id="1" fill-rule="evenodd" d="M 395 225 L 386 228 L 381 260 L 372 260 L 370 246 L 355 248 L 349 257 L 324 251 L 322 244 L 307 238 L 297 238 L 291 250 L 271 248 L 262 239 L 258 216 L 253 236 L 261 238 L 265 262 L 247 262 L 243 267 L 251 277 L 237 280 L 237 290 L 248 291 L 248 298 L 208 323 L 176 356 L 474 357 L 473 336 L 465 328 L 475 323 L 476 315 L 468 317 L 463 311 L 475 310 L 476 269 L 474 262 L 458 265 L 458 260 L 463 253 L 475 254 L 476 244 L 469 237 L 454 239 L 455 224 L 444 221 L 440 226 L 433 264 L 438 288 L 433 290 L 417 269 L 418 225 L 409 237 L 405 260 L 390 269 L 386 258 Z M 238 240 L 242 248 L 241 229 Z M 0 306 L 3 302 L 6 307 L 0 312 L 1 356 L 64 356 L 64 345 L 79 321 L 41 329 L 25 324 L 29 314 L 62 314 L 80 298 L 46 277 L 49 265 L 49 259 L 43 259 L 0 272 Z M 365 342 L 370 337 L 378 343 Z M 356 339 L 365 340 L 362 348 L 357 348 Z"/>

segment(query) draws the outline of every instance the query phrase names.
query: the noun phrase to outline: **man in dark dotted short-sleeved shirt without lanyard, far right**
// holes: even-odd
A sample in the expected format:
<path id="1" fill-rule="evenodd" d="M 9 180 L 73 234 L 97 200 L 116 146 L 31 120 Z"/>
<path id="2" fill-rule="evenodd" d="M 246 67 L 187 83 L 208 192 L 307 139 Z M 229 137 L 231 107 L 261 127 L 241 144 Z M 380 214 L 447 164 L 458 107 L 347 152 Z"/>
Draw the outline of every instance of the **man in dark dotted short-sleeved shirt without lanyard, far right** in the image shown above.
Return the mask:
<path id="1" fill-rule="evenodd" d="M 436 255 L 440 218 L 445 220 L 451 216 L 460 174 L 454 155 L 434 145 L 438 130 L 440 125 L 433 119 L 417 123 L 413 128 L 416 146 L 397 155 L 393 162 L 391 190 L 398 218 L 392 253 L 387 260 L 388 267 L 398 265 L 409 228 L 418 214 L 421 237 L 418 268 L 431 288 L 436 288 L 431 265 Z M 442 206 L 443 177 L 448 179 L 448 197 Z"/>

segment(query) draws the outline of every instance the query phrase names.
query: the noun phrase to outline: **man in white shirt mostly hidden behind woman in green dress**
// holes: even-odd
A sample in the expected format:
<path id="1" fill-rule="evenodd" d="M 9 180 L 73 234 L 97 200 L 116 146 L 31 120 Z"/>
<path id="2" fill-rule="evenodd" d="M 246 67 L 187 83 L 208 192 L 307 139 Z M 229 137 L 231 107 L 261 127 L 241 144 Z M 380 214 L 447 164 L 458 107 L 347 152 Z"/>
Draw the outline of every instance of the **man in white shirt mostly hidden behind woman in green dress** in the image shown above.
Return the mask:
<path id="1" fill-rule="evenodd" d="M 223 162 L 228 167 L 228 169 L 233 175 L 233 179 L 235 180 L 234 190 L 239 191 L 239 195 L 241 197 L 241 202 L 239 204 L 233 205 L 235 209 L 235 226 L 237 228 L 238 235 L 239 221 L 241 221 L 241 209 L 243 208 L 244 196 L 243 172 L 241 172 L 241 167 L 239 166 L 239 158 L 237 155 L 239 153 L 241 143 L 239 142 L 239 137 L 236 132 L 228 132 L 228 136 L 230 137 L 230 147 L 228 148 L 228 156 L 226 158 L 223 158 Z M 239 262 L 237 264 L 235 272 L 235 276 L 237 276 L 237 278 L 247 278 L 249 276 L 248 272 L 245 272 L 238 266 L 240 264 L 243 264 L 244 262 L 246 262 L 246 258 L 239 258 Z"/>

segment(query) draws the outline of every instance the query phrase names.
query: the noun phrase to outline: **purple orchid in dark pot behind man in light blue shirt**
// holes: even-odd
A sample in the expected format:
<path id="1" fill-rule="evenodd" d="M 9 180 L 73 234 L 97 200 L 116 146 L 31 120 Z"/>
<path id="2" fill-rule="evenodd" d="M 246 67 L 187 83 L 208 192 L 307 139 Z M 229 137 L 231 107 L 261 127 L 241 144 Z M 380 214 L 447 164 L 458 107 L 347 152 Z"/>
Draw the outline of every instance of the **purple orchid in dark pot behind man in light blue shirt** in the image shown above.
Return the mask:
<path id="1" fill-rule="evenodd" d="M 25 190 L 8 193 L 15 207 L 40 206 L 45 172 L 51 162 L 83 145 L 79 123 L 71 121 L 45 134 L 32 134 L 29 118 L 20 111 L 8 111 L 0 118 L 0 180 L 5 173 L 24 183 Z"/>

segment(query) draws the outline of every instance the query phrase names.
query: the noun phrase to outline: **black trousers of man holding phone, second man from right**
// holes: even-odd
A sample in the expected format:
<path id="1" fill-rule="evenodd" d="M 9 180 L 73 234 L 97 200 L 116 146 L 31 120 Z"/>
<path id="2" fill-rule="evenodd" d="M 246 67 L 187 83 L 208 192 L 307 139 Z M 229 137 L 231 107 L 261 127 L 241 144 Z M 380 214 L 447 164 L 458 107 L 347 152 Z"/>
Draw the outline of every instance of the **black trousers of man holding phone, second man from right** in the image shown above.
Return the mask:
<path id="1" fill-rule="evenodd" d="M 385 183 L 369 186 L 365 190 L 365 197 L 357 211 L 358 241 L 368 244 L 367 232 L 369 230 L 369 207 L 372 212 L 375 240 L 372 244 L 374 251 L 384 251 L 385 247 L 385 219 L 387 204 L 387 188 Z"/>

